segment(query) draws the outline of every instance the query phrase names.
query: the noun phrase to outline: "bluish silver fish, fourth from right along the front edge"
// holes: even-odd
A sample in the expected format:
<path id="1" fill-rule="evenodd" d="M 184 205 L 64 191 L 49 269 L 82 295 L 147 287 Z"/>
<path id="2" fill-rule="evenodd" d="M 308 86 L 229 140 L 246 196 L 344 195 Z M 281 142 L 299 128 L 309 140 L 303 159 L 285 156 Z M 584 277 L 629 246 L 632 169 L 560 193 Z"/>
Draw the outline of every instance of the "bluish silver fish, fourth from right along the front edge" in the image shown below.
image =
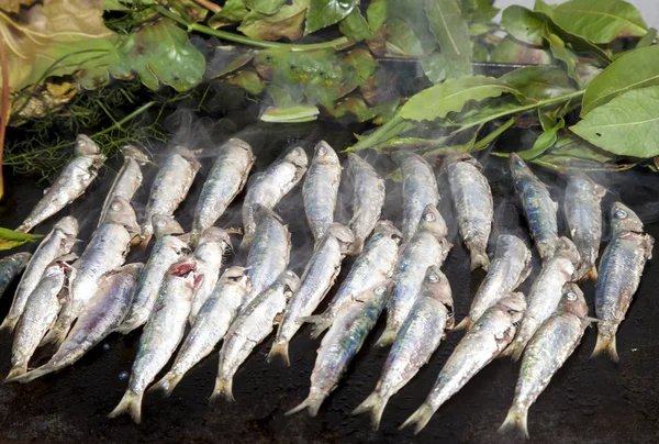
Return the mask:
<path id="1" fill-rule="evenodd" d="M 378 322 L 384 308 L 389 282 L 364 291 L 345 303 L 327 334 L 321 342 L 313 373 L 309 396 L 294 409 L 286 414 L 293 414 L 309 409 L 309 414 L 315 417 L 321 404 L 336 388 L 353 358 L 359 353 L 364 341 Z"/>

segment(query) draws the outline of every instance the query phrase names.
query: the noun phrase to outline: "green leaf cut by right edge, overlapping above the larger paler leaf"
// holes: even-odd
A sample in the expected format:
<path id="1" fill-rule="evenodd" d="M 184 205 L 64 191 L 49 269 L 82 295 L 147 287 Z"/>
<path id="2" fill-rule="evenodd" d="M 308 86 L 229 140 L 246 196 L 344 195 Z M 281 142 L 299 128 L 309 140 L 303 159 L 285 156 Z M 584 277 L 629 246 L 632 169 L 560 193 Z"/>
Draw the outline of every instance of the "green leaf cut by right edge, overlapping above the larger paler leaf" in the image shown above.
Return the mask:
<path id="1" fill-rule="evenodd" d="M 659 85 L 659 46 L 636 49 L 618 58 L 591 80 L 581 115 L 632 89 Z"/>

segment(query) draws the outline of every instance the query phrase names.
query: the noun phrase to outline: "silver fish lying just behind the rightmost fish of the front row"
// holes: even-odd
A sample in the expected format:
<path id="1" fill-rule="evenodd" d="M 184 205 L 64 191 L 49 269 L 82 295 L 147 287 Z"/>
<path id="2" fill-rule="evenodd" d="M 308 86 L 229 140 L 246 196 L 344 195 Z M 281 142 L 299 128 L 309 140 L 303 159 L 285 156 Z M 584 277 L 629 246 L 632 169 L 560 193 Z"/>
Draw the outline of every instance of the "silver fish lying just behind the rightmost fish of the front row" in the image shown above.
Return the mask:
<path id="1" fill-rule="evenodd" d="M 574 275 L 579 252 L 567 237 L 560 237 L 556 254 L 543 266 L 528 292 L 526 312 L 515 340 L 505 351 L 514 360 L 522 357 L 526 344 L 556 310 L 562 297 L 562 288 Z"/>

